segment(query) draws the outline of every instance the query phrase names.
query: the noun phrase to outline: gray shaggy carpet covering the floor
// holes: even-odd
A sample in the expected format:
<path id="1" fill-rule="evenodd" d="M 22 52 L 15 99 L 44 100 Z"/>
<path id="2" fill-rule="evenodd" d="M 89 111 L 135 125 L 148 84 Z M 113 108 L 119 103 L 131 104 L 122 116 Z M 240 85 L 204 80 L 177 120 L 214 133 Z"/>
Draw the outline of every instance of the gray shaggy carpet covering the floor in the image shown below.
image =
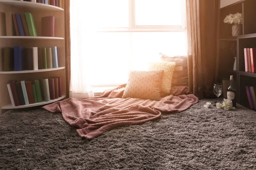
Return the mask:
<path id="1" fill-rule="evenodd" d="M 60 113 L 0 116 L 0 169 L 256 170 L 256 112 L 204 108 L 82 139 Z"/>

